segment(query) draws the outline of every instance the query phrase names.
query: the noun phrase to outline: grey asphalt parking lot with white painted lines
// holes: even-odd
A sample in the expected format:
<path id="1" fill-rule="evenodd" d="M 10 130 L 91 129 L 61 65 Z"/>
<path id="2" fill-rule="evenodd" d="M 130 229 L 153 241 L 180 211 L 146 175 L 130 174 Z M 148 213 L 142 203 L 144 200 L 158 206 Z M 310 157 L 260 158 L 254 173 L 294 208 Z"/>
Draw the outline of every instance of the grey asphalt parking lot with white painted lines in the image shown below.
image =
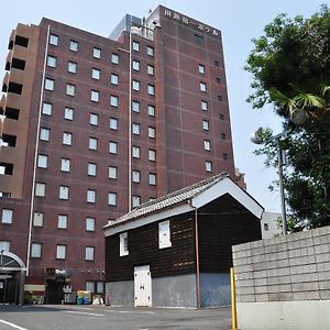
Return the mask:
<path id="1" fill-rule="evenodd" d="M 230 308 L 1 306 L 0 330 L 229 330 Z"/>

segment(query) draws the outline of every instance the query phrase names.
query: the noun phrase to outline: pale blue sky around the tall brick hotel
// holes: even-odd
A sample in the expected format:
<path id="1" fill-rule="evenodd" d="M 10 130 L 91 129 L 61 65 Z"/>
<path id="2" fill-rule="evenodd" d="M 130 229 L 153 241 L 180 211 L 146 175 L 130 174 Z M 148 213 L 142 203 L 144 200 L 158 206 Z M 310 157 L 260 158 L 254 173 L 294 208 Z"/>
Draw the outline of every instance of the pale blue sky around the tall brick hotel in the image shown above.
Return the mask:
<path id="1" fill-rule="evenodd" d="M 277 14 L 284 12 L 290 16 L 309 16 L 322 3 L 330 6 L 327 0 L 16 0 L 11 6 L 7 4 L 7 8 L 2 4 L 0 74 L 3 77 L 12 29 L 19 22 L 37 25 L 43 16 L 108 36 L 125 13 L 142 18 L 147 15 L 150 9 L 163 4 L 218 28 L 223 38 L 235 166 L 245 173 L 248 191 L 266 210 L 279 211 L 279 193 L 267 190 L 271 182 L 277 177 L 276 172 L 265 167 L 263 157 L 253 155 L 255 146 L 249 135 L 261 125 L 272 128 L 274 133 L 280 132 L 280 121 L 271 107 L 255 111 L 245 102 L 251 92 L 251 76 L 243 70 L 243 66 L 253 47 L 251 38 L 262 35 L 264 25 Z"/>

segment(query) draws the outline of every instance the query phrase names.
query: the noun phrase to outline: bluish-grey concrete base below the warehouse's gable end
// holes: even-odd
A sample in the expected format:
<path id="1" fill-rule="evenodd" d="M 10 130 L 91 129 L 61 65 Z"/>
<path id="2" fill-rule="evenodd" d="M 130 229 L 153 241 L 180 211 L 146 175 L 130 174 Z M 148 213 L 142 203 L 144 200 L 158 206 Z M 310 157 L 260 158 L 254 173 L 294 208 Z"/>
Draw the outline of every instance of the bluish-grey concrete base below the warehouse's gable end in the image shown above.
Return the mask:
<path id="1" fill-rule="evenodd" d="M 230 305 L 230 275 L 223 273 L 200 274 L 201 307 Z"/>

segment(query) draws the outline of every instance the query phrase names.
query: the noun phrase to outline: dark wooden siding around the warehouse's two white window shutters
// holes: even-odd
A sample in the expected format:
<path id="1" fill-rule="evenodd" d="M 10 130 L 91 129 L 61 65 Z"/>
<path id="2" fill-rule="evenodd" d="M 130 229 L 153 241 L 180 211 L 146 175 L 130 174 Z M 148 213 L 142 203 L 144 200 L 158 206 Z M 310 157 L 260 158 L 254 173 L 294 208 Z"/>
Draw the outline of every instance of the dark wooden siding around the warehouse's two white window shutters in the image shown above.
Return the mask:
<path id="1" fill-rule="evenodd" d="M 172 248 L 158 249 L 158 222 L 128 232 L 127 256 L 119 255 L 119 233 L 106 238 L 106 280 L 133 279 L 134 266 L 144 264 L 151 266 L 153 277 L 196 272 L 194 215 L 168 220 Z"/>

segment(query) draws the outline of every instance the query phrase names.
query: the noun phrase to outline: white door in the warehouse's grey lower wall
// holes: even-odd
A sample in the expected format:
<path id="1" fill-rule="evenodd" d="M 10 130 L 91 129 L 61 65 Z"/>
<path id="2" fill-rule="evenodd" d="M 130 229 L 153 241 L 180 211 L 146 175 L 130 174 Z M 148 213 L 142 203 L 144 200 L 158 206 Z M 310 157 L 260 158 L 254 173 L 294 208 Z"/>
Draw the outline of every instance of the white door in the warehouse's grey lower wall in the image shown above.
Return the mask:
<path id="1" fill-rule="evenodd" d="M 150 265 L 134 267 L 134 306 L 152 306 Z"/>

